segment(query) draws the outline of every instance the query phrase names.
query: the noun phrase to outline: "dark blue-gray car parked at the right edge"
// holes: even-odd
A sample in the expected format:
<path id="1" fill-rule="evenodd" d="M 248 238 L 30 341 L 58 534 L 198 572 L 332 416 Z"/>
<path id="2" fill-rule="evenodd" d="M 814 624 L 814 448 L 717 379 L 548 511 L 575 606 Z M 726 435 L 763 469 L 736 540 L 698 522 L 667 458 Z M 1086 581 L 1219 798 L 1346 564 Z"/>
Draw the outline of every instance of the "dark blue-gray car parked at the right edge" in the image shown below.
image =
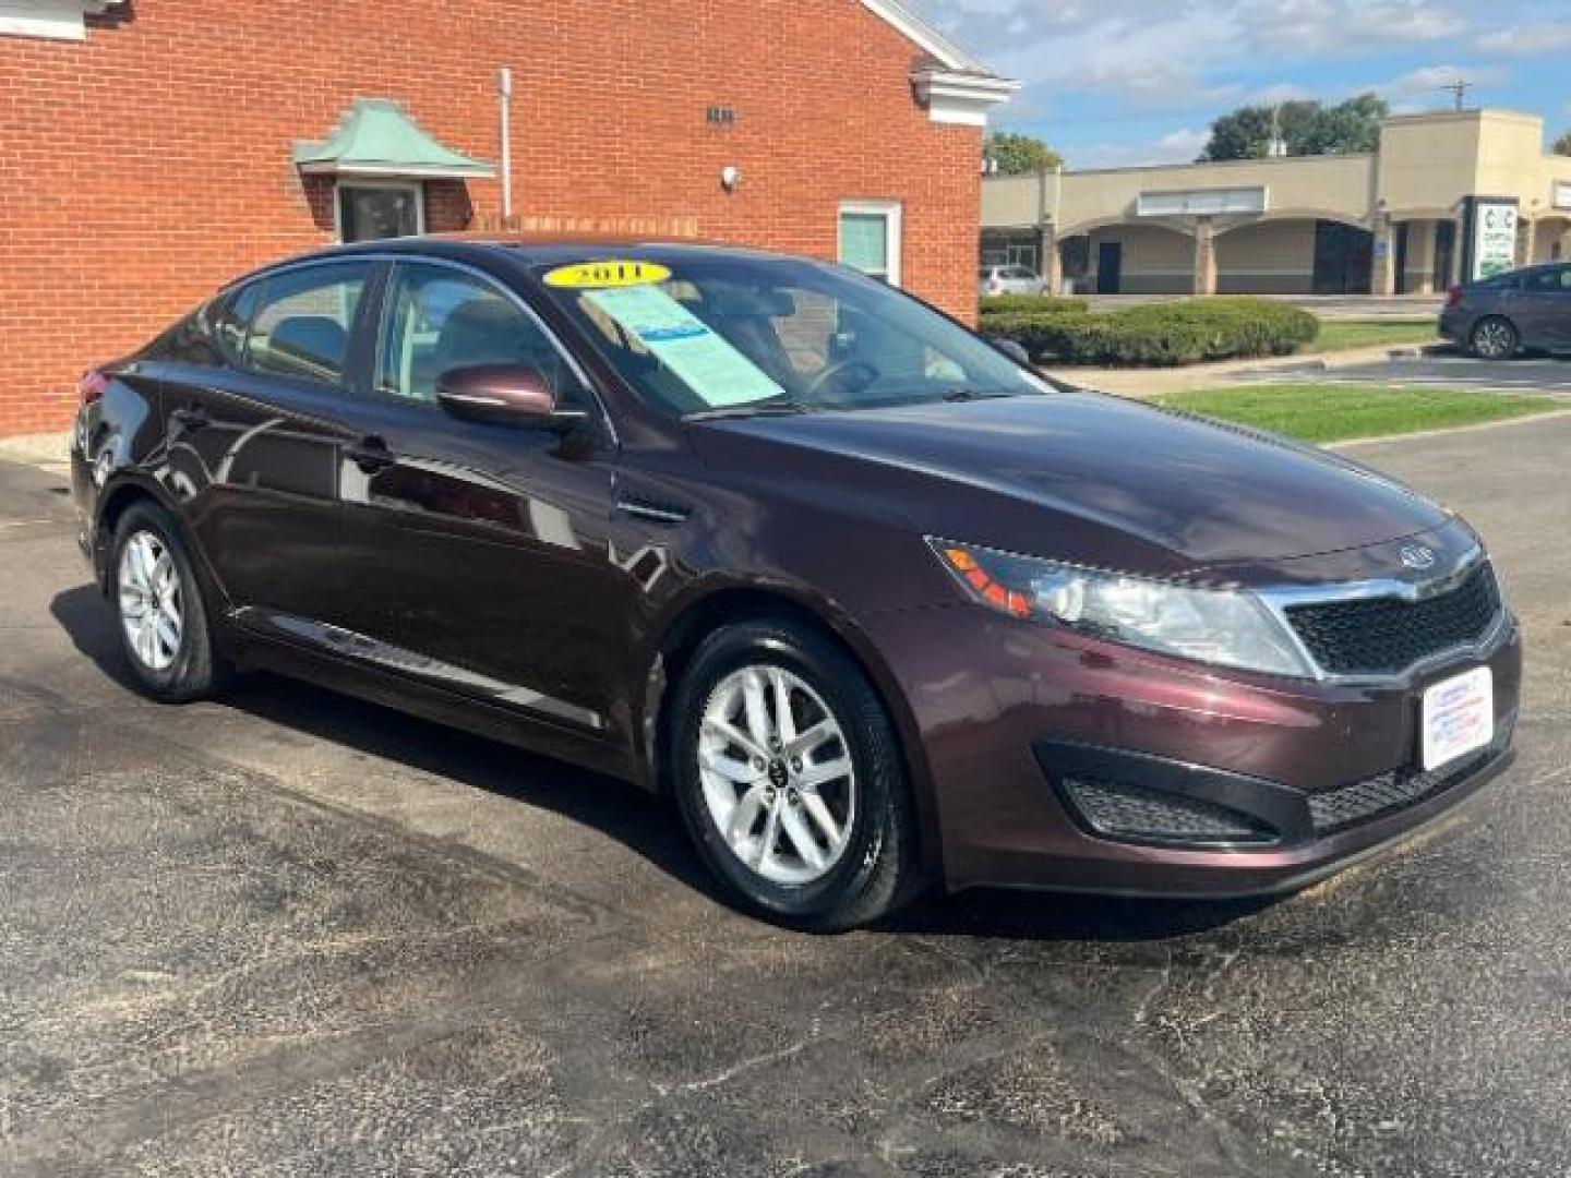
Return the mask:
<path id="1" fill-rule="evenodd" d="M 1441 335 L 1485 360 L 1524 349 L 1571 352 L 1571 262 L 1453 286 L 1441 311 Z"/>

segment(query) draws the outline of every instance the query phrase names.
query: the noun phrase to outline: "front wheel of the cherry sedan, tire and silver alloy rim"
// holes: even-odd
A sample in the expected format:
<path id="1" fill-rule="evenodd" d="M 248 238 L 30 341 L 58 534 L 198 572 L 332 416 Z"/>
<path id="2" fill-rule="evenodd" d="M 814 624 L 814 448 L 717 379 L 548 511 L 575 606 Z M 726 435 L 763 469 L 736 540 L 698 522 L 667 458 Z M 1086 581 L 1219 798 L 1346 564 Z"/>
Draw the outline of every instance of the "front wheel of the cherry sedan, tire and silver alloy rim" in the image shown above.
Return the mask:
<path id="1" fill-rule="evenodd" d="M 914 894 L 916 821 L 894 727 L 826 638 L 773 619 L 716 630 L 668 724 L 666 773 L 688 834 L 742 906 L 840 931 Z"/>

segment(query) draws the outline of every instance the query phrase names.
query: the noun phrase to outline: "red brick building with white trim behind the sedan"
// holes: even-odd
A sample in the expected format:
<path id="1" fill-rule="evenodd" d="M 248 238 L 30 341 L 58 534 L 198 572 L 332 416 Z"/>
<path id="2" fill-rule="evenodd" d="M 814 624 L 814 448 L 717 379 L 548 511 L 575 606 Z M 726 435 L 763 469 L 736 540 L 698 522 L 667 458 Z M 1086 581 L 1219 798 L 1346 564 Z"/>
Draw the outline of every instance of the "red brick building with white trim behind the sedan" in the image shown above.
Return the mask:
<path id="1" fill-rule="evenodd" d="M 0 435 L 341 236 L 702 236 L 969 314 L 1010 90 L 894 0 L 0 0 Z"/>

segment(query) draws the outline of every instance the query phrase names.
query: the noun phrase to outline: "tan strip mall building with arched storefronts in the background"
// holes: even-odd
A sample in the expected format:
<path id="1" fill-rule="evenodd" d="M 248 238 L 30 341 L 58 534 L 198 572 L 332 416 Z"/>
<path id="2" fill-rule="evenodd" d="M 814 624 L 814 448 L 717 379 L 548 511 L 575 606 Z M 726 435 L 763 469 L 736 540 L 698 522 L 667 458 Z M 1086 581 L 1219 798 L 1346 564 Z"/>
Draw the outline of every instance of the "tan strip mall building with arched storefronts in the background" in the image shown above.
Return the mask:
<path id="1" fill-rule="evenodd" d="M 1059 292 L 1430 294 L 1571 256 L 1571 157 L 1503 110 L 1395 116 L 1368 155 L 988 177 L 982 264 Z"/>

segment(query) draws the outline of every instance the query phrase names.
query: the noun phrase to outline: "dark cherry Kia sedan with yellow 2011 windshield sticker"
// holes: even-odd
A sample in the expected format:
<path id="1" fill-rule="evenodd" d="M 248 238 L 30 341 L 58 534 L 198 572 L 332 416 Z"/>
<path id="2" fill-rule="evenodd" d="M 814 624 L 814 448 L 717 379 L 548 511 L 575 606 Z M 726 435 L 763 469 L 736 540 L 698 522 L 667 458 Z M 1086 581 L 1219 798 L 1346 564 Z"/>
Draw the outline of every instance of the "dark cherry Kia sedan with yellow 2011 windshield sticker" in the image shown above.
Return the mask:
<path id="1" fill-rule="evenodd" d="M 1293 889 L 1510 757 L 1459 518 L 817 261 L 283 262 L 90 372 L 72 466 L 149 694 L 272 668 L 669 792 L 798 927 Z"/>

